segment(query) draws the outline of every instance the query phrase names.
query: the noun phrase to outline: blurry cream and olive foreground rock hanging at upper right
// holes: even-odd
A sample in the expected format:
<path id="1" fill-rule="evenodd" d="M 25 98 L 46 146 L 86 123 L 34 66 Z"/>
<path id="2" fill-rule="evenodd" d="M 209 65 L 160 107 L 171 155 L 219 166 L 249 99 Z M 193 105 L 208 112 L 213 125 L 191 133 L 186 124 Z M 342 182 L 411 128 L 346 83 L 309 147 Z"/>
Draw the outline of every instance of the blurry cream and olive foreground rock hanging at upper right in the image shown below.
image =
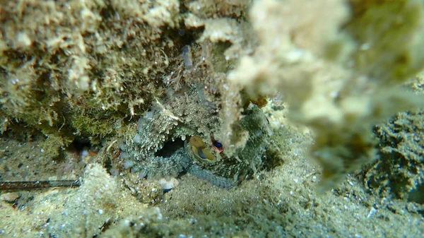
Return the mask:
<path id="1" fill-rule="evenodd" d="M 332 188 L 374 159 L 374 124 L 424 105 L 398 85 L 424 65 L 423 13 L 415 0 L 259 1 L 250 13 L 259 46 L 229 81 L 252 98 L 285 97 L 292 121 L 314 131 L 310 155 Z"/>

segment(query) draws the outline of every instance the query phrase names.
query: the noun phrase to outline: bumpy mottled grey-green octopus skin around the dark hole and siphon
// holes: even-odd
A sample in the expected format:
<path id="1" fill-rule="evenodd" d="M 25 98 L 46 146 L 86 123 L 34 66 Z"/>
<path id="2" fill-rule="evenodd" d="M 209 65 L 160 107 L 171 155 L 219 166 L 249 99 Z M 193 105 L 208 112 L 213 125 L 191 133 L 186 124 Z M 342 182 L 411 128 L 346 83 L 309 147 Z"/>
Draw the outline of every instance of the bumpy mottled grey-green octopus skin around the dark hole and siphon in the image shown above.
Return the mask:
<path id="1" fill-rule="evenodd" d="M 225 155 L 225 147 L 213 149 L 216 143 L 220 144 L 214 138 L 221 128 L 220 118 L 215 109 L 201 102 L 196 88 L 173 95 L 163 105 L 153 110 L 153 115 L 141 118 L 136 136 L 120 145 L 124 167 L 131 172 L 148 179 L 189 172 L 216 186 L 230 188 L 261 169 L 271 132 L 264 113 L 256 105 L 245 109 L 242 119 L 234 125 L 248 134 L 248 140 L 230 157 Z M 193 136 L 201 138 L 212 157 L 206 158 L 189 143 Z"/>

